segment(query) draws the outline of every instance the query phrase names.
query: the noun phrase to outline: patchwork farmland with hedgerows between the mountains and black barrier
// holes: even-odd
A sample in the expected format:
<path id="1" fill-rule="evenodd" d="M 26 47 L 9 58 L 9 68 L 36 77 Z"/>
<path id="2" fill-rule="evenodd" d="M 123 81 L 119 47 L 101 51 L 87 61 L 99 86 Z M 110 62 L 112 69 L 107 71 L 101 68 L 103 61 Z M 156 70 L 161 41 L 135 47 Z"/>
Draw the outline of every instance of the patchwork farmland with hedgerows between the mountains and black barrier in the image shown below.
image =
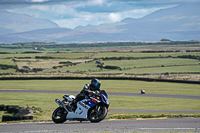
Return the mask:
<path id="1" fill-rule="evenodd" d="M 84 74 L 200 81 L 198 41 L 0 45 L 5 48 L 0 52 L 0 77 Z"/>

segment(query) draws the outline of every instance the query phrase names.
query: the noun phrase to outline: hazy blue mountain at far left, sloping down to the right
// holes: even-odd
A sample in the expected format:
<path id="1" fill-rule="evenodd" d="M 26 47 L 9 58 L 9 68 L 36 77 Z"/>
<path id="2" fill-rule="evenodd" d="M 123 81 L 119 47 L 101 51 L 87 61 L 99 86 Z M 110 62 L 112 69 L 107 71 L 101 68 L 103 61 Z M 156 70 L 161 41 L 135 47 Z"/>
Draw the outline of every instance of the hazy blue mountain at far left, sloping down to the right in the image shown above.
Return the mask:
<path id="1" fill-rule="evenodd" d="M 38 19 L 28 15 L 0 11 L 0 35 L 45 28 L 59 28 L 59 26 L 47 19 Z"/>

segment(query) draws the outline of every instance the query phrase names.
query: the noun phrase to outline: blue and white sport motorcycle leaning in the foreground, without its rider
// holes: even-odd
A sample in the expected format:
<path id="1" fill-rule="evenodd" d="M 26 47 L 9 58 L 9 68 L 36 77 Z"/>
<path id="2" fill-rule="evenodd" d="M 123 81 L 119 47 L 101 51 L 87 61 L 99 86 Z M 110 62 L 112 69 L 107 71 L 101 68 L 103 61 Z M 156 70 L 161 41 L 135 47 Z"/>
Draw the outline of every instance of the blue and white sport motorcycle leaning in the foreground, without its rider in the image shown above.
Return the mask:
<path id="1" fill-rule="evenodd" d="M 62 101 L 55 99 L 59 107 L 52 114 L 54 123 L 63 123 L 66 120 L 97 123 L 102 121 L 106 117 L 107 112 L 109 112 L 108 107 L 110 103 L 105 90 L 102 90 L 100 95 L 86 96 L 85 99 L 77 102 L 75 110 L 70 106 L 73 99 L 75 99 L 73 95 L 64 95 Z"/>

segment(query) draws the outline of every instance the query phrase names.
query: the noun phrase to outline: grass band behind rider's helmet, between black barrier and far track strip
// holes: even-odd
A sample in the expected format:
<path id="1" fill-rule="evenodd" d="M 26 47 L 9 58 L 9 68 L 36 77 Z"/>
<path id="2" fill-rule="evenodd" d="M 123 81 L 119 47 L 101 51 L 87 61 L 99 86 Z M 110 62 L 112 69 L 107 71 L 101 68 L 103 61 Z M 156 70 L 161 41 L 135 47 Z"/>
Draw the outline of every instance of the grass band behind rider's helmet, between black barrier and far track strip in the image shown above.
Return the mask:
<path id="1" fill-rule="evenodd" d="M 107 92 L 200 95 L 199 84 L 147 82 L 135 80 L 101 80 Z M 0 80 L 0 89 L 80 91 L 90 80 Z"/>

